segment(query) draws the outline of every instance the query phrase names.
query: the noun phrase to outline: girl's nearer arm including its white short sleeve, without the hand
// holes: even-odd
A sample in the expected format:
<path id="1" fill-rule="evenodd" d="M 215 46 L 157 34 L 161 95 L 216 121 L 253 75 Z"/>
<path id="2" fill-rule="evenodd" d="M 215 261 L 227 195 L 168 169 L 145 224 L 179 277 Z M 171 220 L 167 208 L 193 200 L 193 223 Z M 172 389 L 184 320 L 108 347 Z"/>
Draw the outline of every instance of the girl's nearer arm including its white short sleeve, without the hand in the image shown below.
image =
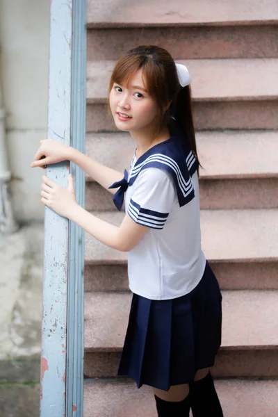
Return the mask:
<path id="1" fill-rule="evenodd" d="M 138 181 L 139 180 L 139 181 Z M 145 235 L 149 227 L 163 229 L 174 204 L 175 190 L 170 174 L 158 168 L 143 171 L 120 227 L 105 222 L 79 205 L 67 213 L 67 218 L 79 224 L 104 245 L 129 252 Z"/>

